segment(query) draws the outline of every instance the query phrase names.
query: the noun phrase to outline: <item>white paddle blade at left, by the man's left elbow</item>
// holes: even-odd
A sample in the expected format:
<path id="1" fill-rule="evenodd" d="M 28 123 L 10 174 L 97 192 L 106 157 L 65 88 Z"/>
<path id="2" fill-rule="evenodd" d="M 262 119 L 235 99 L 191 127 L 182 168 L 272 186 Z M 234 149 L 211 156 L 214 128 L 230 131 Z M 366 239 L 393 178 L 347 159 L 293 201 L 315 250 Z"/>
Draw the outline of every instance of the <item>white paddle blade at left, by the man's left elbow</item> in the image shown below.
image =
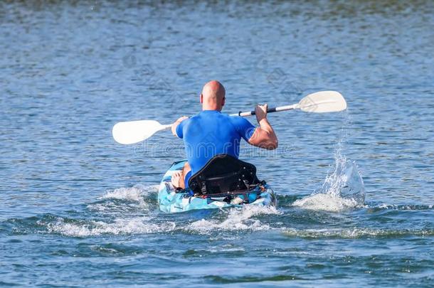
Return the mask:
<path id="1" fill-rule="evenodd" d="M 113 126 L 112 134 L 117 143 L 134 144 L 151 137 L 155 132 L 171 127 L 154 120 L 119 122 Z"/>

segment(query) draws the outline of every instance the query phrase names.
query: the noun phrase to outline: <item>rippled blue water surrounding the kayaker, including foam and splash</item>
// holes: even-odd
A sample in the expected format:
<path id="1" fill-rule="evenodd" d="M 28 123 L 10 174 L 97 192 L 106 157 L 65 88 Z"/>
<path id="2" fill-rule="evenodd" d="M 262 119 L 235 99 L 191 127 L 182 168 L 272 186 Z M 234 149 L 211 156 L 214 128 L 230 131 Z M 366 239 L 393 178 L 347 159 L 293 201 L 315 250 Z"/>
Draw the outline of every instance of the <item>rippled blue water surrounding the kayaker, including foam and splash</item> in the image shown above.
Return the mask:
<path id="1" fill-rule="evenodd" d="M 0 285 L 419 286 L 434 279 L 432 1 L 0 4 Z M 338 90 L 246 145 L 277 208 L 160 213 L 184 152 L 112 125 Z M 254 121 L 254 119 L 251 119 Z"/>

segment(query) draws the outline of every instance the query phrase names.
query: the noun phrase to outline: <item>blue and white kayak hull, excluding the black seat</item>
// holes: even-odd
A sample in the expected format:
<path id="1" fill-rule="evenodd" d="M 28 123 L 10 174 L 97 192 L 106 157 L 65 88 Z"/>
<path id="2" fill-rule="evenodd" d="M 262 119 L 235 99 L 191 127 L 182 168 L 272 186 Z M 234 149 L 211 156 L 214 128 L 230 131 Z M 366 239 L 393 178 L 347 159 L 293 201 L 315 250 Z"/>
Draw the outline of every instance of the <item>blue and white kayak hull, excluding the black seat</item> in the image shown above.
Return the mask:
<path id="1" fill-rule="evenodd" d="M 216 209 L 228 207 L 242 207 L 245 205 L 270 206 L 276 204 L 275 193 L 267 184 L 258 184 L 243 193 L 231 196 L 191 196 L 189 191 L 177 192 L 171 184 L 171 176 L 181 171 L 186 160 L 175 162 L 164 174 L 158 189 L 159 208 L 166 213 L 184 212 L 194 209 Z M 245 200 L 247 199 L 247 200 Z"/>

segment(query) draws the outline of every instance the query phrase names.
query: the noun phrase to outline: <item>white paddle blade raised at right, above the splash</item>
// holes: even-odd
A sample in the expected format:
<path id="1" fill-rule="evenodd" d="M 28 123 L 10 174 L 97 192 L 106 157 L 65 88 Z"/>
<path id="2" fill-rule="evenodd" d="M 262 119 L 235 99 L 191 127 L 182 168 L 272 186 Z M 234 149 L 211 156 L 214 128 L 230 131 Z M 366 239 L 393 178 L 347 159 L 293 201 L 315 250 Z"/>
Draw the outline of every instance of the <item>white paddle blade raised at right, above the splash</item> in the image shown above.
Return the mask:
<path id="1" fill-rule="evenodd" d="M 304 112 L 339 112 L 346 110 L 346 102 L 337 91 L 320 91 L 304 97 L 298 102 L 298 107 Z"/>

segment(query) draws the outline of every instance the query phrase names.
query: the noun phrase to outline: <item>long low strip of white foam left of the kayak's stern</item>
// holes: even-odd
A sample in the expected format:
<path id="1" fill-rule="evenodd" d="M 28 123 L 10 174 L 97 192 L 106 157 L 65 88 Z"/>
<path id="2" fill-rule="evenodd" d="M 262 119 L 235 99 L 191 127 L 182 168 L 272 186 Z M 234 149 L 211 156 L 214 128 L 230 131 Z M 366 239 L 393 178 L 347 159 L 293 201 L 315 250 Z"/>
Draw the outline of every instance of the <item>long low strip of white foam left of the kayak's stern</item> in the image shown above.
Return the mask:
<path id="1" fill-rule="evenodd" d="M 60 218 L 56 223 L 48 223 L 49 233 L 60 233 L 65 236 L 86 237 L 103 234 L 149 234 L 174 230 L 174 222 L 149 223 L 149 218 L 115 219 L 113 223 L 90 221 L 88 223 L 65 223 Z"/>

